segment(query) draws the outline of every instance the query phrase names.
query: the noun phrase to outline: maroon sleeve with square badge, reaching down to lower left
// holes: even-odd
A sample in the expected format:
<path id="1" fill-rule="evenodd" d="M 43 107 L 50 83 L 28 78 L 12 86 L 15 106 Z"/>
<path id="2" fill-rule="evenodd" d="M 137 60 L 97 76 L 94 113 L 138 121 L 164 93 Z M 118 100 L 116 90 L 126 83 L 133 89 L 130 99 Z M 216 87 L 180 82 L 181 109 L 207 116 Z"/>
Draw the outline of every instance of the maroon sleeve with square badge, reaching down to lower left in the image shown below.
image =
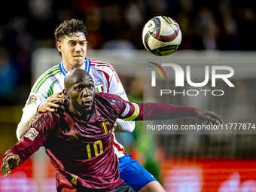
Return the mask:
<path id="1" fill-rule="evenodd" d="M 50 112 L 49 112 L 50 114 Z M 25 160 L 27 160 L 35 151 L 44 145 L 46 141 L 47 134 L 53 127 L 53 120 L 51 119 L 51 115 L 41 114 L 29 129 L 26 130 L 24 136 L 17 142 L 14 147 L 10 148 L 6 151 L 5 156 L 9 154 L 17 154 L 20 157 L 20 162 L 17 163 L 16 166 L 12 167 L 12 169 L 20 166 Z"/>

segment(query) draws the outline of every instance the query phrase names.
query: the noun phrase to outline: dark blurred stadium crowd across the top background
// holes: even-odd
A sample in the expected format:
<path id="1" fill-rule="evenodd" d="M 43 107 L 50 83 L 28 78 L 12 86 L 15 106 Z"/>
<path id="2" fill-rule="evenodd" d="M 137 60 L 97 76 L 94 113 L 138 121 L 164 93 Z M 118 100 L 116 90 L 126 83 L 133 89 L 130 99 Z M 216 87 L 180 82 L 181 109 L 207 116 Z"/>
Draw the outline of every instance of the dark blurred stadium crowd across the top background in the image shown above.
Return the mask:
<path id="1" fill-rule="evenodd" d="M 4 1 L 0 15 L 0 105 L 24 105 L 32 52 L 55 47 L 56 26 L 71 18 L 84 20 L 91 49 L 144 49 L 143 26 L 166 15 L 181 26 L 180 50 L 255 50 L 252 1 Z"/>

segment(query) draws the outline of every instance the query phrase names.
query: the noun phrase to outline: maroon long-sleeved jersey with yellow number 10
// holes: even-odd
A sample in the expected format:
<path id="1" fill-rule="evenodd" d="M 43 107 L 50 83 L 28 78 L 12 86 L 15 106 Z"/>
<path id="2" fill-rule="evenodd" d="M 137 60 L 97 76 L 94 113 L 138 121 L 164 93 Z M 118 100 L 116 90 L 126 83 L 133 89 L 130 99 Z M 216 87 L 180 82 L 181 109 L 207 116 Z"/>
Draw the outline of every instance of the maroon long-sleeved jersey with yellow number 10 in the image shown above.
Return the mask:
<path id="1" fill-rule="evenodd" d="M 145 111 L 143 115 L 143 111 Z M 78 120 L 66 103 L 55 112 L 41 114 L 17 145 L 7 154 L 20 156 L 19 166 L 44 146 L 56 169 L 56 185 L 114 189 L 119 178 L 118 161 L 112 147 L 112 128 L 123 120 L 160 120 L 194 115 L 194 108 L 154 103 L 131 103 L 120 96 L 96 93 L 95 107 L 88 122 Z"/>

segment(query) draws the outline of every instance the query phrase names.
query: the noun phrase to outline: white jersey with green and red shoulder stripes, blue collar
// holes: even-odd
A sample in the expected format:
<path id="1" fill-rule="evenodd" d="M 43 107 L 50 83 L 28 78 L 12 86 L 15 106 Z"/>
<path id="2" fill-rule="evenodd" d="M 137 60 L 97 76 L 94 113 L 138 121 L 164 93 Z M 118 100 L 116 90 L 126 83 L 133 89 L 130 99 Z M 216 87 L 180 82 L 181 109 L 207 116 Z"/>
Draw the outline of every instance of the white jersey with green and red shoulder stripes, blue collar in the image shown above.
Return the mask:
<path id="1" fill-rule="evenodd" d="M 93 59 L 85 59 L 84 61 L 85 71 L 93 78 L 93 83 L 96 88 L 96 92 L 117 94 L 123 99 L 128 101 L 123 85 L 118 78 L 113 66 L 106 62 L 99 62 Z M 21 130 L 27 130 L 30 124 L 39 116 L 37 108 L 44 102 L 49 96 L 54 93 L 58 93 L 64 89 L 64 77 L 67 74 L 64 69 L 63 62 L 59 65 L 53 66 L 48 69 L 43 75 L 41 75 L 29 94 L 29 99 L 26 101 L 26 105 L 23 108 L 23 117 L 19 123 L 17 129 L 17 138 L 20 139 Z M 124 121 L 117 119 L 117 127 L 122 127 L 120 130 L 126 132 L 133 132 L 135 123 L 130 121 Z M 123 157 L 124 149 L 123 145 L 117 142 L 113 133 L 113 146 L 117 157 Z"/>

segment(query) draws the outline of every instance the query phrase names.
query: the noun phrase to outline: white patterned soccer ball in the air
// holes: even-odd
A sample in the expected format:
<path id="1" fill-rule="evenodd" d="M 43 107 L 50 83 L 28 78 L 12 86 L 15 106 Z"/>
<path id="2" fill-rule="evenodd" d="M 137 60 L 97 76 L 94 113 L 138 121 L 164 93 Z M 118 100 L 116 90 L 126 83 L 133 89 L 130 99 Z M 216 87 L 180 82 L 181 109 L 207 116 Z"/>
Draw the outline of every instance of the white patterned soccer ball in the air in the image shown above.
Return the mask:
<path id="1" fill-rule="evenodd" d="M 157 56 L 167 56 L 181 44 L 181 29 L 175 20 L 166 16 L 157 16 L 145 24 L 142 41 L 145 48 Z"/>

